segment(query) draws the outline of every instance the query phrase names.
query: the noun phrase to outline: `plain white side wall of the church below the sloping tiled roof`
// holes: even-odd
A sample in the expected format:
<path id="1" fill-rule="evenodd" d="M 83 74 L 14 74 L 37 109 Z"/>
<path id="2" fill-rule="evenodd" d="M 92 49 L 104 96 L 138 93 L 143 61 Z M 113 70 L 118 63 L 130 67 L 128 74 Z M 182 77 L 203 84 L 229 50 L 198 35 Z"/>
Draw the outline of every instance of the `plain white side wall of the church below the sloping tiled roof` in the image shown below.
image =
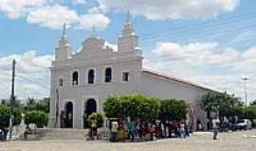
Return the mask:
<path id="1" fill-rule="evenodd" d="M 141 72 L 139 81 L 140 83 L 137 86 L 138 93 L 159 98 L 175 98 L 185 100 L 193 110 L 193 128 L 196 127 L 197 118 L 200 119 L 204 126 L 207 126 L 206 114 L 199 108 L 198 100 L 202 97 L 203 94 L 208 92 L 208 90 L 180 82 L 175 82 L 144 72 Z"/>

